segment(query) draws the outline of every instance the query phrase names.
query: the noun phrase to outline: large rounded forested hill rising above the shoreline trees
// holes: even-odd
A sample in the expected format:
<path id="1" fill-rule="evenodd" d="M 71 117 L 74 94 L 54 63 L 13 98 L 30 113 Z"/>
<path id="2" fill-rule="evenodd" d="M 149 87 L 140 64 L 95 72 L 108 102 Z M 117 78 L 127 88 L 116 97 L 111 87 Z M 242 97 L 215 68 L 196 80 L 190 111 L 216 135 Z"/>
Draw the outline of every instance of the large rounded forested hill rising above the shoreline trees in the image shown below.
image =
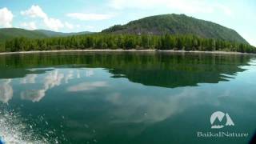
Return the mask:
<path id="1" fill-rule="evenodd" d="M 102 30 L 114 34 L 193 34 L 202 38 L 215 38 L 248 44 L 235 30 L 185 14 L 163 14 L 138 19 L 126 25 L 115 25 Z"/>

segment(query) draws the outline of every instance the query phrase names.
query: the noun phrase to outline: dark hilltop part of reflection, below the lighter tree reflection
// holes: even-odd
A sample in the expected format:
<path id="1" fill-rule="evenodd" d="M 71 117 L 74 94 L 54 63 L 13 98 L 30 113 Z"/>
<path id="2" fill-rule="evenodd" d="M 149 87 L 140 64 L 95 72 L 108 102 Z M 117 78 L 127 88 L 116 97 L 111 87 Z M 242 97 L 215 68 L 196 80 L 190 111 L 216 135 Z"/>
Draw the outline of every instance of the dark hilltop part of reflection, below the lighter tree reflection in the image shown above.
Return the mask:
<path id="1" fill-rule="evenodd" d="M 122 73 L 122 71 L 116 71 L 113 73 Z M 218 83 L 219 81 L 225 81 L 225 78 L 220 78 L 219 74 L 214 73 L 190 73 L 187 71 L 170 70 L 145 71 L 146 70 L 126 71 L 126 76 L 130 81 L 139 82 L 146 86 L 162 86 L 170 88 L 178 86 L 197 86 L 198 83 L 202 82 Z M 118 76 L 114 77 L 118 78 Z"/>

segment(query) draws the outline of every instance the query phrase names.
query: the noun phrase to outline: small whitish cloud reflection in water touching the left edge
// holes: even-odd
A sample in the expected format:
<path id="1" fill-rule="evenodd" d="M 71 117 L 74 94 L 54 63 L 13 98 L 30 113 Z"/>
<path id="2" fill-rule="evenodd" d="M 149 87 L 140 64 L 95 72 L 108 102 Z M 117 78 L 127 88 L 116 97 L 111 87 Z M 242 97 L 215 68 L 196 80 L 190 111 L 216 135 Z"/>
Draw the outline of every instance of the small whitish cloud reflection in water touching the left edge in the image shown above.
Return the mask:
<path id="1" fill-rule="evenodd" d="M 0 101 L 7 103 L 13 97 L 13 88 L 10 86 L 11 79 L 0 81 Z"/>

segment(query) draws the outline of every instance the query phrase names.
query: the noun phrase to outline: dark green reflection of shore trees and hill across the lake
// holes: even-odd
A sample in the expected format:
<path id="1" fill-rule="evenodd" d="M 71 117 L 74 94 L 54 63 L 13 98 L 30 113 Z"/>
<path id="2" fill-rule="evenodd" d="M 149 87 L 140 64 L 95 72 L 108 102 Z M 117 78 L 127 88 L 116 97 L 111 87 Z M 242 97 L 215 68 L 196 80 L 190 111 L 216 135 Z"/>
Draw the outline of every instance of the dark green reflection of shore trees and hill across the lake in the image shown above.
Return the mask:
<path id="1" fill-rule="evenodd" d="M 166 53 L 60 53 L 16 54 L 0 57 L 0 78 L 24 77 L 36 67 L 102 67 L 113 78 L 125 77 L 147 86 L 197 86 L 198 83 L 217 83 L 243 71 L 240 66 L 250 61 L 248 55 L 166 54 Z M 12 69 L 20 70 L 11 74 Z M 1 71 L 2 72 L 2 71 Z M 38 72 L 38 71 L 37 71 Z M 42 71 L 43 73 L 43 71 Z"/>

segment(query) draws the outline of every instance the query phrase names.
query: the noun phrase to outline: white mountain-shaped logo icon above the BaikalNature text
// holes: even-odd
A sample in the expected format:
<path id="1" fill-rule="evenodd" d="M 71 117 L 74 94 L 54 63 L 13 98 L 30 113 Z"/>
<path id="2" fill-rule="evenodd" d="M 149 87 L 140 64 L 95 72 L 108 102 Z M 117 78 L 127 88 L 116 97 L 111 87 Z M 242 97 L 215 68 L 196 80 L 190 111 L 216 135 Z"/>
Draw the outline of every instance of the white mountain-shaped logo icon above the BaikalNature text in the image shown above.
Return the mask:
<path id="1" fill-rule="evenodd" d="M 210 124 L 211 124 L 211 128 L 212 129 L 221 129 L 222 127 L 224 127 L 221 122 L 222 119 L 226 116 L 226 126 L 234 126 L 234 122 L 232 121 L 232 119 L 230 118 L 229 114 L 225 114 L 222 111 L 216 111 L 213 114 L 211 114 L 210 116 Z M 216 123 L 214 124 L 214 122 L 218 122 L 218 124 L 216 125 Z"/>

